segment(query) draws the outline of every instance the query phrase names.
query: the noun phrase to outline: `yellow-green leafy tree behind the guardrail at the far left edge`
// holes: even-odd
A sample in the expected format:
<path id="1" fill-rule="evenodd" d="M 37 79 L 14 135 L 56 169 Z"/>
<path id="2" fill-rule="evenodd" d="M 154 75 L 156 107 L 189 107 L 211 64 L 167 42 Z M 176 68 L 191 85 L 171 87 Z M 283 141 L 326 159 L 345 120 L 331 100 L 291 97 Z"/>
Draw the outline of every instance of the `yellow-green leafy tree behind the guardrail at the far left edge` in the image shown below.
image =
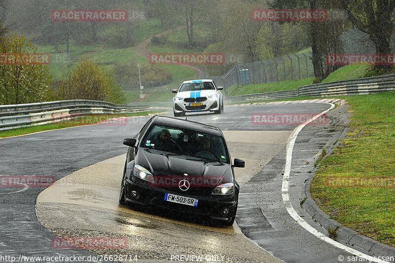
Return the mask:
<path id="1" fill-rule="evenodd" d="M 0 45 L 0 104 L 24 104 L 51 98 L 49 66 L 37 59 L 31 40 L 15 34 Z M 23 54 L 27 60 L 22 60 Z M 29 56 L 26 56 L 29 55 Z"/>

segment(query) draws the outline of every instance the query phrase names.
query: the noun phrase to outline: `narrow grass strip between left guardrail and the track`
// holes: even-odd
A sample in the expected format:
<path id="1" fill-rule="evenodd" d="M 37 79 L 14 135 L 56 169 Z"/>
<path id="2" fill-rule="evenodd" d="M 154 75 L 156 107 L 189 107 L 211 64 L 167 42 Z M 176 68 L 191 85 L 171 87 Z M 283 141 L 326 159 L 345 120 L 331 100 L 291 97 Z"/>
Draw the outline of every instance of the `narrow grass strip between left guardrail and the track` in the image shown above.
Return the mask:
<path id="1" fill-rule="evenodd" d="M 142 113 L 122 113 L 122 114 L 87 114 L 81 117 L 73 118 L 71 120 L 64 120 L 56 123 L 48 123 L 44 125 L 16 128 L 6 131 L 0 131 L 0 138 L 17 136 L 23 134 L 29 134 L 40 131 L 48 131 L 55 129 L 62 129 L 68 127 L 75 127 L 87 124 L 94 124 L 98 122 L 102 122 L 105 119 L 116 118 L 116 117 L 130 117 L 130 116 L 148 116 L 150 113 L 159 113 L 163 111 L 150 111 L 150 112 L 142 112 Z M 111 125 L 111 123 L 107 124 Z M 118 124 L 119 125 L 119 124 Z"/>

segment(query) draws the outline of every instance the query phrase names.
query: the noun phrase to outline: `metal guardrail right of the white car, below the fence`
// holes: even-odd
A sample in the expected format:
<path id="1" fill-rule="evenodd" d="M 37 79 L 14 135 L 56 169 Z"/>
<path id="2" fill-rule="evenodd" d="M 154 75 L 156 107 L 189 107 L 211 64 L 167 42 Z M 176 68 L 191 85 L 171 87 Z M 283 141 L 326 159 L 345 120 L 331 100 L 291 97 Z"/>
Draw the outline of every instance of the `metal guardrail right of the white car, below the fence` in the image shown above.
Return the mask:
<path id="1" fill-rule="evenodd" d="M 395 74 L 313 84 L 287 91 L 228 97 L 225 98 L 224 102 L 226 104 L 231 104 L 237 102 L 285 99 L 297 96 L 329 97 L 339 95 L 362 95 L 389 90 L 395 90 Z"/>

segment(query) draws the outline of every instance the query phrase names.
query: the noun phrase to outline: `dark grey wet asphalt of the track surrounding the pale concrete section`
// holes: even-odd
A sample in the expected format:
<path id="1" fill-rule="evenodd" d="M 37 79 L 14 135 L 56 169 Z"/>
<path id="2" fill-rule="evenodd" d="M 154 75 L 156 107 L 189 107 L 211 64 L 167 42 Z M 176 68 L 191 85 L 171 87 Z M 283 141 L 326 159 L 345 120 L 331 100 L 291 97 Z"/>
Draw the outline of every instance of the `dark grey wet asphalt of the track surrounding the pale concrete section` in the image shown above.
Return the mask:
<path id="1" fill-rule="evenodd" d="M 228 106 L 221 115 L 193 115 L 188 119 L 223 130 L 293 130 L 297 125 L 253 125 L 251 114 L 320 113 L 328 108 L 328 104 Z M 0 175 L 51 175 L 58 180 L 124 153 L 123 138 L 132 137 L 147 120 L 148 117 L 136 118 L 126 125 L 89 125 L 0 139 Z M 312 161 L 328 138 L 336 140 L 340 136 L 342 127 L 331 129 L 330 124 L 309 125 L 302 131 L 294 149 L 294 175 L 310 169 L 303 163 Z M 310 145 L 313 146 L 309 149 Z M 348 256 L 315 238 L 287 214 L 280 194 L 284 165 L 285 148 L 241 188 L 237 224 L 243 233 L 285 262 L 338 262 L 339 255 Z M 290 195 L 295 199 L 291 202 L 299 209 L 298 196 L 304 179 L 295 176 L 292 180 L 295 187 L 291 187 Z M 0 188 L 0 255 L 90 255 L 83 250 L 51 248 L 54 235 L 41 226 L 35 213 L 36 199 L 42 190 L 29 188 L 9 193 L 15 188 Z M 299 214 L 304 213 L 299 210 Z"/>

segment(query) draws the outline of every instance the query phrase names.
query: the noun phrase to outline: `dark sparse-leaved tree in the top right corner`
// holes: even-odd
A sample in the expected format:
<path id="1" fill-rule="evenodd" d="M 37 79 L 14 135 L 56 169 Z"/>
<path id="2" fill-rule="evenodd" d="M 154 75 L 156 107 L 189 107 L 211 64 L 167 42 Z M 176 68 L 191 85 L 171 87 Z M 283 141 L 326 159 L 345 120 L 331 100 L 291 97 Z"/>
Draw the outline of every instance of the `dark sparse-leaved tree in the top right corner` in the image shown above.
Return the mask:
<path id="1" fill-rule="evenodd" d="M 376 53 L 391 53 L 395 0 L 341 0 L 353 25 L 369 35 Z M 376 65 L 376 69 L 389 66 Z"/>

